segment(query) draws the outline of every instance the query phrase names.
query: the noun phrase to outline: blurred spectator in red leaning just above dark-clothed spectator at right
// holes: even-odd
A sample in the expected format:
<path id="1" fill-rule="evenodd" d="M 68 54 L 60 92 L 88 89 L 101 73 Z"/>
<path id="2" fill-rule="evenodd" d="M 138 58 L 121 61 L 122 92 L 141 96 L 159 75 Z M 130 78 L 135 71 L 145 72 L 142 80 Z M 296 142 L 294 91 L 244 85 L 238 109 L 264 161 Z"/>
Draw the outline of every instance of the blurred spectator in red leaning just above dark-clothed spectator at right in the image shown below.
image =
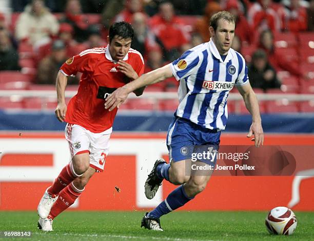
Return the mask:
<path id="1" fill-rule="evenodd" d="M 276 70 L 283 69 L 298 77 L 306 76 L 306 74 L 303 74 L 298 68 L 298 64 L 288 62 L 277 52 L 277 49 L 274 47 L 273 43 L 273 34 L 270 30 L 264 30 L 260 34 L 259 47 L 267 53 L 269 63 Z"/>

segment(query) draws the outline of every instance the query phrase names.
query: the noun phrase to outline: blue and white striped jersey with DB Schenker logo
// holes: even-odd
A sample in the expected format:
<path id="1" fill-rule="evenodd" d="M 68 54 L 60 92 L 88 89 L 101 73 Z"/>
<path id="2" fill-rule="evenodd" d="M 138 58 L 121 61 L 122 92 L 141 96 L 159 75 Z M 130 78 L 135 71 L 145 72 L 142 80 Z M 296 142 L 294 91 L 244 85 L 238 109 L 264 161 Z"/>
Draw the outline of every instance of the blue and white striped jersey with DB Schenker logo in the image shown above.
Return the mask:
<path id="1" fill-rule="evenodd" d="M 249 83 L 243 56 L 230 48 L 223 61 L 210 40 L 186 51 L 170 67 L 180 80 L 176 116 L 208 129 L 225 129 L 229 91 Z"/>

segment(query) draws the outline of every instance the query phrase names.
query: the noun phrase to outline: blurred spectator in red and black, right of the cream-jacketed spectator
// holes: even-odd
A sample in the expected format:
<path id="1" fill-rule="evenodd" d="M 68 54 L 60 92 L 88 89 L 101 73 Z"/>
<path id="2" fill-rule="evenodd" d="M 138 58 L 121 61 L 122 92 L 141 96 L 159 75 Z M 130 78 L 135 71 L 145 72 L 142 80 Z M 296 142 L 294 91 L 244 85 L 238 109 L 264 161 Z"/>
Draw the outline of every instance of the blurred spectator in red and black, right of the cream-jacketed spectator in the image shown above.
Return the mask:
<path id="1" fill-rule="evenodd" d="M 84 42 L 87 39 L 88 20 L 82 12 L 82 6 L 79 0 L 68 0 L 65 7 L 64 16 L 60 23 L 68 23 L 74 29 L 74 39 L 77 42 Z"/>

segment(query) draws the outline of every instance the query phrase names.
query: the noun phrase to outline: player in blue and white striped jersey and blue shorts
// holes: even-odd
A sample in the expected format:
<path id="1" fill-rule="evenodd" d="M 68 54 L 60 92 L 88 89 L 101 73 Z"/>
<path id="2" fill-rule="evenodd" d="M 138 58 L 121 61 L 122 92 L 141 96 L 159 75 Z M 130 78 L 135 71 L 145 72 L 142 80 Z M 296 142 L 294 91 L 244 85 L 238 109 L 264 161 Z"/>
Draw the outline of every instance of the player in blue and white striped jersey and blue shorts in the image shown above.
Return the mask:
<path id="1" fill-rule="evenodd" d="M 243 56 L 230 48 L 235 32 L 235 18 L 229 12 L 221 11 L 210 19 L 208 43 L 186 51 L 179 59 L 162 68 L 143 74 L 135 81 L 114 91 L 106 98 L 105 108 L 119 107 L 134 89 L 151 85 L 174 76 L 180 81 L 179 106 L 167 134 L 170 164 L 163 159 L 156 160 L 145 183 L 146 197 L 151 199 L 163 179 L 180 185 L 154 210 L 146 213 L 142 227 L 163 230 L 160 217 L 192 200 L 202 192 L 212 174 L 212 169 L 201 175 L 186 172 L 188 155 L 198 152 L 199 146 L 217 151 L 220 133 L 227 122 L 227 97 L 236 86 L 242 95 L 246 108 L 252 115 L 248 137 L 254 135 L 256 147 L 263 145 L 263 129 L 258 101 L 247 76 Z M 189 148 L 193 149 L 189 149 Z M 201 162 L 215 165 L 215 159 L 201 159 Z"/>

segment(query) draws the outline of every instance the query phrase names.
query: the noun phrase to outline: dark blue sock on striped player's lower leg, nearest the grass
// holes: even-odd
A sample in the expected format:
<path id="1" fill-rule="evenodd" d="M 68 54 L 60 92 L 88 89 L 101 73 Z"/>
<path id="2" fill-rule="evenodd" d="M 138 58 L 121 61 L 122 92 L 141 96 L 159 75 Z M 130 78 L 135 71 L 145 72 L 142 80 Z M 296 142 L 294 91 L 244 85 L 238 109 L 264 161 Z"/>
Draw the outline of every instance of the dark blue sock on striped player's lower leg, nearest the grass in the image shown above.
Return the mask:
<path id="1" fill-rule="evenodd" d="M 162 215 L 182 207 L 191 199 L 193 199 L 193 197 L 188 197 L 184 191 L 183 185 L 181 185 L 174 189 L 160 205 L 149 212 L 148 216 L 160 218 Z"/>

